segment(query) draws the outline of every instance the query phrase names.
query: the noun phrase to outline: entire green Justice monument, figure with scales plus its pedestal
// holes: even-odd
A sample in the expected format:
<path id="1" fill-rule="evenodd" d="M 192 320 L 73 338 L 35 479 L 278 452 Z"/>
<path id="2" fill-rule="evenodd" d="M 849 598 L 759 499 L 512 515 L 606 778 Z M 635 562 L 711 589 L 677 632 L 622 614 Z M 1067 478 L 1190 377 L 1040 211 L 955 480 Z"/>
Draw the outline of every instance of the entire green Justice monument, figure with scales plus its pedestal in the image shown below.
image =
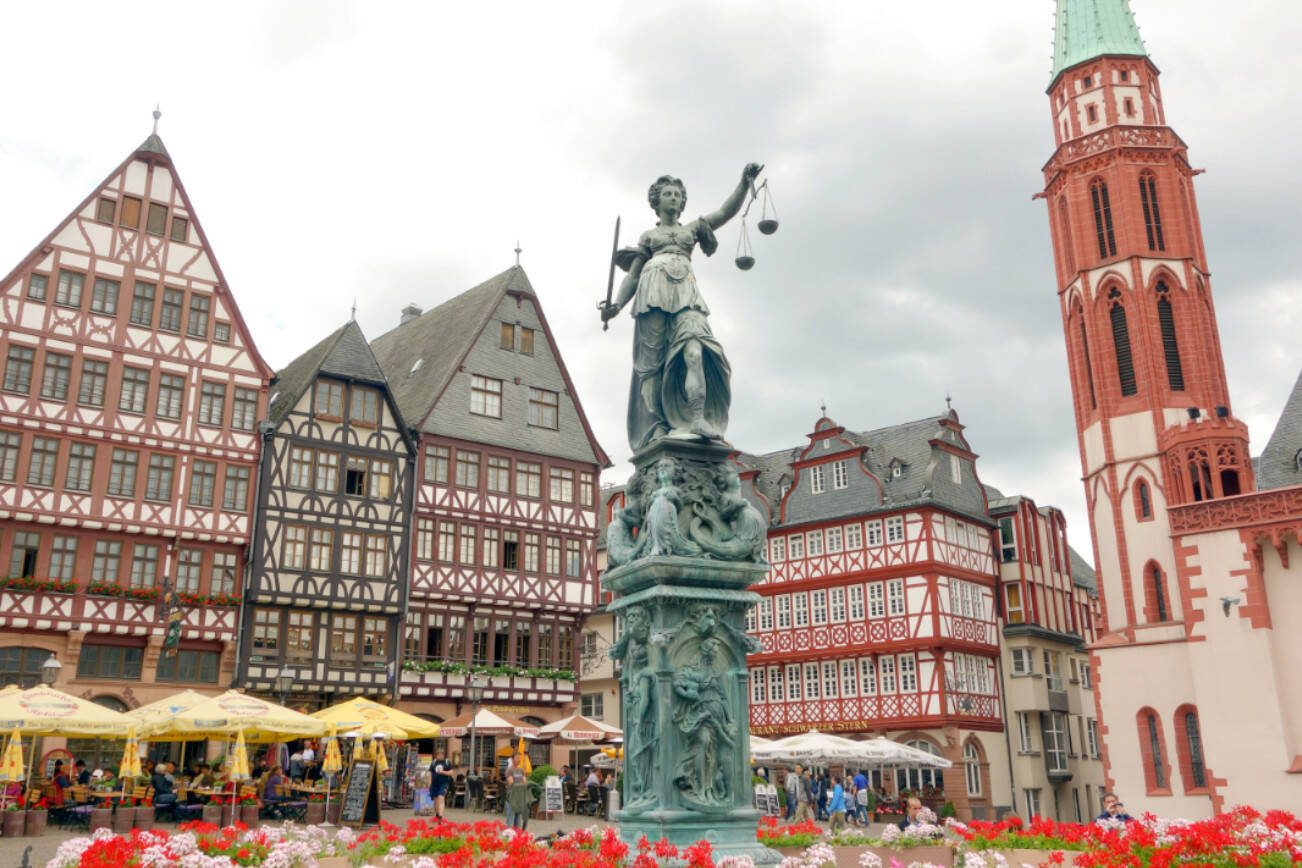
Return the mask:
<path id="1" fill-rule="evenodd" d="M 755 839 L 759 813 L 750 789 L 750 686 L 746 612 L 759 595 L 767 521 L 742 493 L 724 435 L 732 368 L 710 329 L 691 255 L 712 255 L 716 232 L 742 215 L 736 264 L 755 264 L 746 232 L 777 230 L 763 167 L 750 163 L 724 203 L 682 223 L 686 186 L 661 176 L 647 193 L 659 220 L 635 246 L 620 247 L 620 221 L 603 331 L 625 308 L 633 315 L 628 433 L 634 472 L 624 506 L 607 527 L 609 566 L 602 578 L 622 622 L 611 656 L 622 661 L 624 806 L 616 812 L 630 846 L 644 834 L 686 846 L 710 841 L 716 858 L 776 863 Z M 742 207 L 745 206 L 745 211 Z M 616 269 L 625 272 L 616 292 Z"/>

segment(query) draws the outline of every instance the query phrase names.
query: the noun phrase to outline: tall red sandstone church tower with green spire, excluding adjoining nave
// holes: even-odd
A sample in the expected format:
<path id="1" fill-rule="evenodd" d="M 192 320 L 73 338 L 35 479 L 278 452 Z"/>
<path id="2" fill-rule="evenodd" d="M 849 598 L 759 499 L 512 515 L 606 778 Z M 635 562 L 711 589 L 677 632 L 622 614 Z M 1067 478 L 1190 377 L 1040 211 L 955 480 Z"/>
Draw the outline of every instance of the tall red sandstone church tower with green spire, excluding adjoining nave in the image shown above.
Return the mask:
<path id="1" fill-rule="evenodd" d="M 1230 410 L 1199 170 L 1167 126 L 1128 0 L 1057 0 L 1048 98 L 1056 150 L 1042 195 L 1103 599 L 1104 761 L 1109 785 L 1170 795 L 1161 717 L 1169 727 L 1174 712 L 1144 717 L 1133 668 L 1180 682 L 1198 653 L 1187 643 L 1206 638 L 1208 591 L 1191 583 L 1172 510 L 1255 491 L 1247 428 Z"/>

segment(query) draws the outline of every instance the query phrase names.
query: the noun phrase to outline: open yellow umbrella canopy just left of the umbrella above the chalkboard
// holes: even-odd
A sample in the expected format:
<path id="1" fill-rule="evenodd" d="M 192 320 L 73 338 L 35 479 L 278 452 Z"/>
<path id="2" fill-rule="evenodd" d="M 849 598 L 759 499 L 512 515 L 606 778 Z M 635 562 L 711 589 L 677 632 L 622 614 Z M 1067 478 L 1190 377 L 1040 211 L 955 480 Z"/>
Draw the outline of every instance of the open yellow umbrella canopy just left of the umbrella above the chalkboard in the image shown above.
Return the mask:
<path id="1" fill-rule="evenodd" d="M 0 696 L 0 704 L 3 701 L 4 698 Z M 327 729 L 327 724 L 315 717 L 238 690 L 228 690 L 142 724 L 141 738 L 150 742 L 187 742 L 229 739 L 238 733 L 242 743 L 266 744 L 286 738 L 319 738 Z"/>

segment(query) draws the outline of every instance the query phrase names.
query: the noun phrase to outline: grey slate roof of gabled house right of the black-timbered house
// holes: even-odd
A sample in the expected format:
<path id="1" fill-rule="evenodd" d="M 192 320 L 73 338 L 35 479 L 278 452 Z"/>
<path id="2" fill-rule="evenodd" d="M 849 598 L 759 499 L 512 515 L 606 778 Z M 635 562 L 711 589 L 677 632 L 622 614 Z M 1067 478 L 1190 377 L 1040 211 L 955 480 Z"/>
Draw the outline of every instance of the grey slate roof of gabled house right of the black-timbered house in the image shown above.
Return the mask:
<path id="1" fill-rule="evenodd" d="M 375 358 L 389 377 L 393 397 L 413 427 L 437 433 L 428 427 L 430 413 L 508 293 L 533 301 L 543 334 L 556 347 L 538 294 L 519 265 L 512 265 L 371 342 Z M 583 414 L 560 350 L 553 355 L 592 454 L 599 465 L 609 467 L 611 459 Z"/>

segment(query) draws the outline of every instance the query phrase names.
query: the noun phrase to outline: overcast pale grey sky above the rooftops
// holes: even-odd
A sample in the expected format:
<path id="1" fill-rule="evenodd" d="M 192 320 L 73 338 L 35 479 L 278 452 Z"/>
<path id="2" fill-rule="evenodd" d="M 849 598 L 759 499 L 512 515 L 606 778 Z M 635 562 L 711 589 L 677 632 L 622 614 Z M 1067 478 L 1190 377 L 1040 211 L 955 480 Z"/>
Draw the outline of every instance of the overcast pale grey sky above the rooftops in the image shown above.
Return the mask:
<path id="1" fill-rule="evenodd" d="M 1134 0 L 1190 144 L 1236 413 L 1259 452 L 1302 350 L 1302 4 Z M 1056 504 L 1090 556 L 1042 187 L 1051 0 L 7 5 L 0 272 L 160 133 L 263 355 L 371 337 L 503 271 L 519 239 L 598 437 L 628 475 L 631 323 L 602 333 L 611 229 L 648 183 L 780 210 L 697 273 L 732 359 L 729 439 L 819 403 L 876 428 L 949 392 L 982 479 Z"/>

